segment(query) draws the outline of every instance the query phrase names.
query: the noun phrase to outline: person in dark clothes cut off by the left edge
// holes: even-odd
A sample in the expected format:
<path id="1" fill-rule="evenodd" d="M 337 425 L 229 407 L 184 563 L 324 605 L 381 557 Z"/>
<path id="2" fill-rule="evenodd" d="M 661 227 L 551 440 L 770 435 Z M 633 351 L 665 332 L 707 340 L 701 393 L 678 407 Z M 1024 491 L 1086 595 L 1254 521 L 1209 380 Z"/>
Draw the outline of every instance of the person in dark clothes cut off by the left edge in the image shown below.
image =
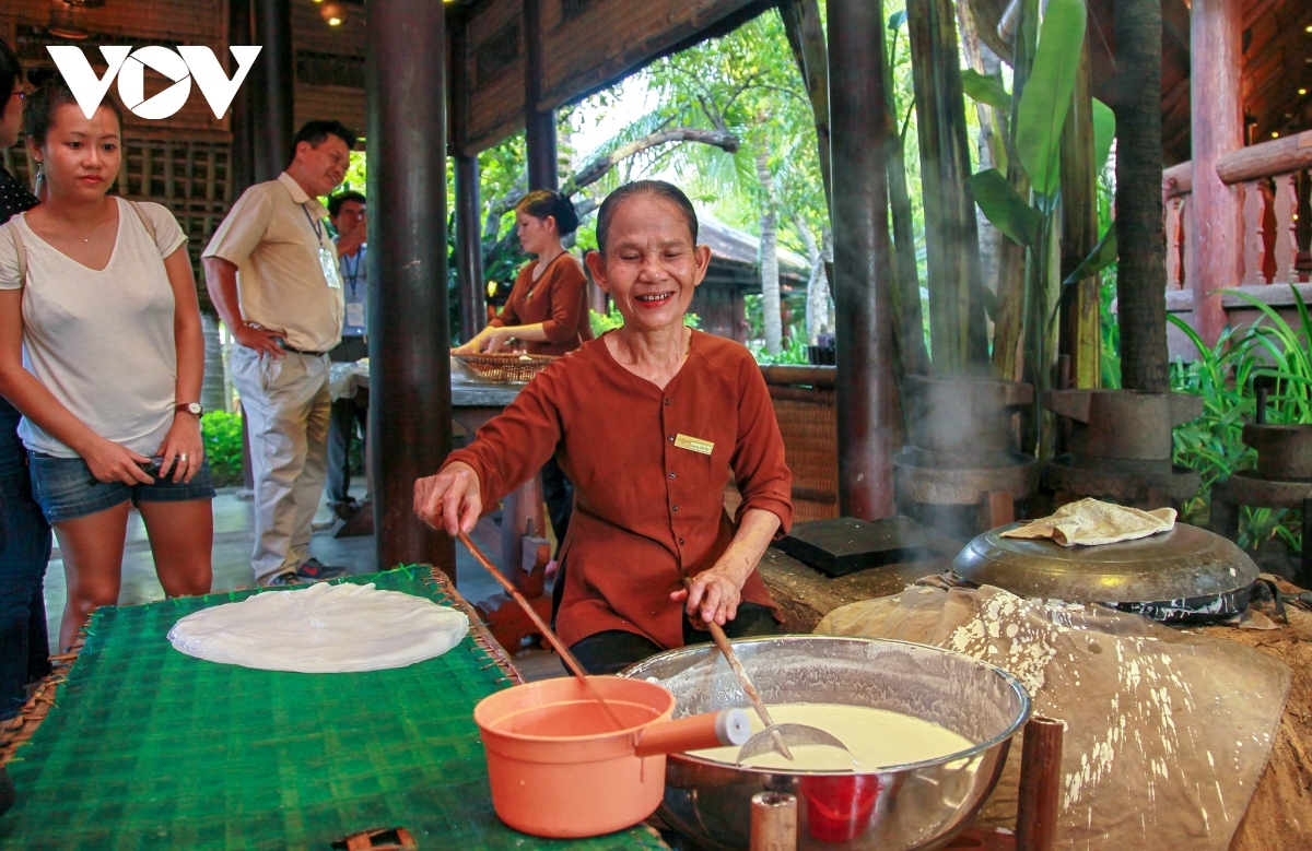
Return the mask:
<path id="1" fill-rule="evenodd" d="M 22 66 L 0 41 L 0 148 L 22 130 Z M 0 165 L 0 224 L 37 206 L 37 197 Z M 28 684 L 50 673 L 46 635 L 46 563 L 50 524 L 31 497 L 28 451 L 18 438 L 22 414 L 0 399 L 0 721 L 28 699 Z"/>

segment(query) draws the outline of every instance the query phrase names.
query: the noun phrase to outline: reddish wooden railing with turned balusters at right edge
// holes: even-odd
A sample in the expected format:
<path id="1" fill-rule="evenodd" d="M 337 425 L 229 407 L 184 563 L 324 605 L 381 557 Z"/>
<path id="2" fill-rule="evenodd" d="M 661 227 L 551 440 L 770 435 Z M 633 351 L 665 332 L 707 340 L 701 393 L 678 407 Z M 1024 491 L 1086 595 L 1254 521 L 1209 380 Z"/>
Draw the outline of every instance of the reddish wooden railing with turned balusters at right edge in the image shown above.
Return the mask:
<path id="1" fill-rule="evenodd" d="M 1312 275 L 1312 131 L 1284 139 L 1262 142 L 1223 156 L 1216 173 L 1223 182 L 1239 186 L 1244 205 L 1242 233 L 1218 235 L 1241 240 L 1242 271 L 1240 287 L 1266 287 L 1273 283 L 1307 282 Z M 1190 163 L 1162 172 L 1162 201 L 1166 218 L 1166 299 L 1168 307 L 1191 309 L 1189 239 L 1193 233 L 1193 173 Z M 1179 292 L 1173 298 L 1173 292 Z M 1256 291 L 1273 303 L 1290 298 L 1288 287 Z M 1225 307 L 1240 307 L 1241 299 L 1223 299 Z"/>

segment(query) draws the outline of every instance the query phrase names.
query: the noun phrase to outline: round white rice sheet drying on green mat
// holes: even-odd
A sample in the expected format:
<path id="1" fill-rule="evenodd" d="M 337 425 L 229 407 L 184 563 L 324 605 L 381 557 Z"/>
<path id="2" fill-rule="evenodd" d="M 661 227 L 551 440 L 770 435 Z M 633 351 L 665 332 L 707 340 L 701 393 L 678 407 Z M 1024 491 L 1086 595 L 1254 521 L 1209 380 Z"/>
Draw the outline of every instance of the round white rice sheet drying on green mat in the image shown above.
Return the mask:
<path id="1" fill-rule="evenodd" d="M 270 671 L 338 674 L 404 667 L 459 644 L 470 619 L 369 585 L 266 591 L 182 618 L 168 640 L 188 656 Z"/>

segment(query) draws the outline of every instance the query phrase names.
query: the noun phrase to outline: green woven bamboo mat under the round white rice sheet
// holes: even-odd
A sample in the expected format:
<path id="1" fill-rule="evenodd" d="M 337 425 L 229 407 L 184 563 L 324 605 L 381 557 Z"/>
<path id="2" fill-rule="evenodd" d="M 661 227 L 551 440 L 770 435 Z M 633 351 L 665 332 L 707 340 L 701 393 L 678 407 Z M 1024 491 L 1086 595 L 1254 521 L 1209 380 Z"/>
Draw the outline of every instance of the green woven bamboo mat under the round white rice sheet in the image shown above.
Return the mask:
<path id="1" fill-rule="evenodd" d="M 453 602 L 426 568 L 345 581 Z M 644 827 L 560 842 L 497 820 L 472 711 L 508 683 L 471 637 L 361 674 L 215 665 L 165 640 L 184 615 L 253 593 L 94 614 L 55 708 L 9 762 L 18 801 L 0 848 L 327 851 L 396 826 L 422 850 L 665 847 Z"/>

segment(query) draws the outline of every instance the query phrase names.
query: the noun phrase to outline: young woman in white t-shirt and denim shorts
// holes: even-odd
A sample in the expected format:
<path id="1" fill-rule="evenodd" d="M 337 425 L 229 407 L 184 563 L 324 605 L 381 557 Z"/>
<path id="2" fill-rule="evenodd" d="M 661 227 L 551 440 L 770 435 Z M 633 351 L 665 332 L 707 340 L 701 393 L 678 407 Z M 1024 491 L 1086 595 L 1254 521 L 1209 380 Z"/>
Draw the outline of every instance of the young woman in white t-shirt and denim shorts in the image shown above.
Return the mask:
<path id="1" fill-rule="evenodd" d="M 0 393 L 24 414 L 33 492 L 59 538 L 64 648 L 118 601 L 129 504 L 164 591 L 210 590 L 205 342 L 173 215 L 108 194 L 122 163 L 117 106 L 87 118 L 52 73 L 25 123 L 42 203 L 0 228 Z"/>

